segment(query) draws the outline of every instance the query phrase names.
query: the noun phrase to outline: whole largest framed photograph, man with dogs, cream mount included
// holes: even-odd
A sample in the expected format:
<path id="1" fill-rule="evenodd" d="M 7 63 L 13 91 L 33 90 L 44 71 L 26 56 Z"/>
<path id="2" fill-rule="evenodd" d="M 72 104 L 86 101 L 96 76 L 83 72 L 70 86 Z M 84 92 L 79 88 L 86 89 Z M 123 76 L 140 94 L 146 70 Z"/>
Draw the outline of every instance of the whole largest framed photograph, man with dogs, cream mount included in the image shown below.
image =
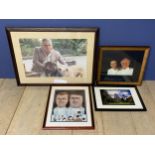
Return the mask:
<path id="1" fill-rule="evenodd" d="M 91 84 L 97 28 L 6 28 L 18 85 Z"/>

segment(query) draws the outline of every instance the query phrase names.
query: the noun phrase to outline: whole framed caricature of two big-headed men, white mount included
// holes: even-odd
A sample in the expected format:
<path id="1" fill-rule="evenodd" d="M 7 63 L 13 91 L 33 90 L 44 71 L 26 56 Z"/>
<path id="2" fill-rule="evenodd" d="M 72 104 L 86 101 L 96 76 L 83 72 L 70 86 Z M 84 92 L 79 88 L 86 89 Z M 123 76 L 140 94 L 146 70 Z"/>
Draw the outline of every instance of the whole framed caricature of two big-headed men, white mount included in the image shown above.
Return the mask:
<path id="1" fill-rule="evenodd" d="M 88 86 L 53 86 L 43 129 L 93 129 Z"/>

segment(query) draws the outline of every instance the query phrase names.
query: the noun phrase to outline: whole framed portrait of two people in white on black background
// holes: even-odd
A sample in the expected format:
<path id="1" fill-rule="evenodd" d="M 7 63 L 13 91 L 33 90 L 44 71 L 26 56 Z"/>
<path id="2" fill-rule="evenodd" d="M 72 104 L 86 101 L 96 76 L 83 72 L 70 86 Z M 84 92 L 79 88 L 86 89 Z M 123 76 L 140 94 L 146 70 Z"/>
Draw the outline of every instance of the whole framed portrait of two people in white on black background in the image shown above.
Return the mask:
<path id="1" fill-rule="evenodd" d="M 100 47 L 97 84 L 140 85 L 149 47 Z"/>

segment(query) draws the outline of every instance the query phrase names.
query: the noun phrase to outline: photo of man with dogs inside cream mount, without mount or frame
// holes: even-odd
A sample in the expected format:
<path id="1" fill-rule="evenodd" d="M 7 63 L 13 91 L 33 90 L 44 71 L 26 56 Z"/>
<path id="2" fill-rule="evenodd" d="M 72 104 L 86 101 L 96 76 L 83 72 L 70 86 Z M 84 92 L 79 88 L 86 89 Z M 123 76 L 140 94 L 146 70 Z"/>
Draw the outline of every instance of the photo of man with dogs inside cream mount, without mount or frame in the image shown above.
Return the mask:
<path id="1" fill-rule="evenodd" d="M 19 39 L 27 77 L 83 77 L 86 39 Z"/>

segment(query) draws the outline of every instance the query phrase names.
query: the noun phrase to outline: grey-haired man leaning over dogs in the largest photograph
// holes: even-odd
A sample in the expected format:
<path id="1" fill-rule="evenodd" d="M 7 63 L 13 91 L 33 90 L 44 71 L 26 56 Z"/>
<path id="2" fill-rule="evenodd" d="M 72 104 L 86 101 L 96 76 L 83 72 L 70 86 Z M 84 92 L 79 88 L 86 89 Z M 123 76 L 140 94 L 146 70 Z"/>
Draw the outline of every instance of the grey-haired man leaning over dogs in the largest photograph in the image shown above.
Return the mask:
<path id="1" fill-rule="evenodd" d="M 53 48 L 52 41 L 49 39 L 42 39 L 41 47 L 35 48 L 34 51 L 32 71 L 43 73 L 47 62 L 53 64 L 60 62 L 61 64 L 66 65 L 60 52 Z"/>

